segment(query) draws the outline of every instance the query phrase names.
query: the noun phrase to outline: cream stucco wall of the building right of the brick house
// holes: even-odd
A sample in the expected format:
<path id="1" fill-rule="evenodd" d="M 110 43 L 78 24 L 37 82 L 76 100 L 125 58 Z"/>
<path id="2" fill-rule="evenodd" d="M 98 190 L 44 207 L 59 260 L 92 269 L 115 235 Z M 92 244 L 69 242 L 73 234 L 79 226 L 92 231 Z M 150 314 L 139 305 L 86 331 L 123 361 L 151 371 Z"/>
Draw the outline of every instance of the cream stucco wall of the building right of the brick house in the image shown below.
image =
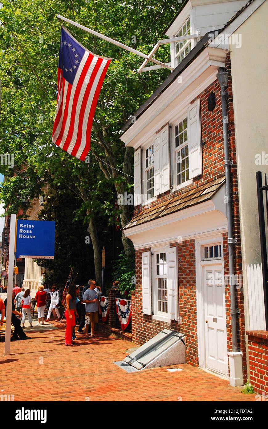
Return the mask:
<path id="1" fill-rule="evenodd" d="M 267 16 L 266 0 L 235 31 L 241 34 L 241 48 L 230 45 L 246 329 L 247 264 L 261 263 L 256 172 L 262 172 L 263 182 L 268 173 L 268 165 L 256 164 L 256 154 L 268 154 Z"/>

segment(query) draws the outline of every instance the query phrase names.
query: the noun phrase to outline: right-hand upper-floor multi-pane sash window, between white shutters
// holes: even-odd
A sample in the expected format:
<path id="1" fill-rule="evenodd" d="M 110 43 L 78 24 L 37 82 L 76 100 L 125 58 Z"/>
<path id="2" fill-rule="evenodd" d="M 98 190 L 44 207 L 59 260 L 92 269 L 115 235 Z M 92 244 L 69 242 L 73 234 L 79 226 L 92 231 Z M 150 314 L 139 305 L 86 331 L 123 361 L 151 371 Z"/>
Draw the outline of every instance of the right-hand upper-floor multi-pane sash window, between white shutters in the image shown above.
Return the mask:
<path id="1" fill-rule="evenodd" d="M 187 115 L 175 125 L 176 185 L 189 180 L 189 148 Z"/>

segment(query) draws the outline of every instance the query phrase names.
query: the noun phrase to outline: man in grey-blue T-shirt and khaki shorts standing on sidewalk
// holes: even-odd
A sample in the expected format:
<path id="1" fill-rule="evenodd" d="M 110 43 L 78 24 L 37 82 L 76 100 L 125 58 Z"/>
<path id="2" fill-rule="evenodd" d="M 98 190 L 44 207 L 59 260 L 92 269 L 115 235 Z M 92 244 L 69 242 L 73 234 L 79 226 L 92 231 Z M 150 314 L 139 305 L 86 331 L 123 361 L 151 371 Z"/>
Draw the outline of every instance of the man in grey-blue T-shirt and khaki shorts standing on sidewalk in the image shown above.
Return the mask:
<path id="1" fill-rule="evenodd" d="M 98 323 L 98 313 L 101 314 L 101 307 L 96 292 L 96 282 L 90 281 L 89 289 L 83 294 L 83 302 L 86 304 L 86 338 L 88 338 L 89 322 L 91 323 L 91 337 L 94 336 L 95 323 Z"/>

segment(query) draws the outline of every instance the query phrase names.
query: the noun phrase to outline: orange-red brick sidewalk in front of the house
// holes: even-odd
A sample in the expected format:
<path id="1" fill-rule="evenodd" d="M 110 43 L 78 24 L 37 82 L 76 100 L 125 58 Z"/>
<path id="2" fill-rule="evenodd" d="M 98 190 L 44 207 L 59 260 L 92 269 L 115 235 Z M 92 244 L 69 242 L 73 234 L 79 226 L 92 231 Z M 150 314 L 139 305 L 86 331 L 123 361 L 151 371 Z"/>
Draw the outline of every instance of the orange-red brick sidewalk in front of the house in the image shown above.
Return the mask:
<path id="1" fill-rule="evenodd" d="M 134 344 L 111 335 L 77 335 L 77 345 L 66 347 L 64 334 L 64 324 L 41 327 L 27 334 L 33 339 L 12 342 L 10 356 L 3 356 L 1 343 L 1 394 L 14 395 L 14 401 L 255 401 L 255 395 L 187 364 L 176 366 L 180 372 L 127 373 L 113 361 L 123 360 Z"/>

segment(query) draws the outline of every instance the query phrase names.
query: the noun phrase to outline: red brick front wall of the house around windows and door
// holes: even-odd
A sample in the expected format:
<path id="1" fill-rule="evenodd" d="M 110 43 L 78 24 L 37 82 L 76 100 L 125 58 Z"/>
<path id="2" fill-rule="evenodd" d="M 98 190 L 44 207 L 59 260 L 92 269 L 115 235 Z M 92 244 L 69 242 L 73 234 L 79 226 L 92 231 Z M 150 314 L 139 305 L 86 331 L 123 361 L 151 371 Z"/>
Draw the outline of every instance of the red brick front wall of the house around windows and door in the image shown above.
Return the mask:
<path id="1" fill-rule="evenodd" d="M 230 157 L 233 161 L 231 168 L 231 196 L 233 208 L 233 236 L 237 239 L 237 244 L 234 245 L 234 266 L 235 274 L 242 275 L 242 259 L 241 259 L 241 240 L 240 240 L 240 223 L 239 223 L 239 203 L 238 203 L 238 178 L 236 169 L 236 153 L 235 153 L 235 126 L 234 126 L 234 111 L 232 102 L 232 78 L 231 78 L 231 63 L 229 54 L 226 58 L 226 71 L 229 73 L 228 80 L 228 97 L 227 97 L 227 114 L 228 114 L 228 138 Z M 211 91 L 214 91 L 216 96 L 216 106 L 213 112 L 208 111 L 208 96 Z M 196 97 L 200 98 L 201 111 L 201 134 L 202 134 L 202 163 L 203 172 L 197 178 L 194 178 L 193 183 L 180 190 L 170 193 L 169 191 L 158 196 L 151 206 L 158 205 L 167 199 L 178 196 L 190 189 L 193 189 L 200 184 L 207 183 L 216 178 L 220 178 L 225 174 L 224 168 L 224 151 L 223 151 L 223 125 L 221 117 L 221 98 L 220 86 L 215 80 L 202 93 Z M 195 100 L 196 100 L 195 99 Z M 195 100 L 192 100 L 194 102 Z M 148 208 L 148 206 L 146 207 Z M 135 213 L 145 210 L 145 207 L 137 206 Z M 182 324 L 179 326 L 174 323 L 170 326 L 163 322 L 152 321 L 150 316 L 143 316 L 142 313 L 142 279 L 141 279 L 141 253 L 150 249 L 143 249 L 136 252 L 136 316 L 137 332 L 135 334 L 136 341 L 139 344 L 152 338 L 155 333 L 163 329 L 163 327 L 172 327 L 172 329 L 181 330 L 188 335 L 187 338 L 187 353 L 188 361 L 193 365 L 198 365 L 197 357 L 197 332 L 196 332 L 196 284 L 195 284 L 195 260 L 194 260 L 194 240 L 187 241 L 178 246 L 178 254 L 181 254 L 181 249 L 185 247 L 183 260 L 179 261 L 179 315 L 182 317 Z M 192 247 L 190 249 L 190 247 Z M 178 257 L 180 258 L 180 256 Z M 223 236 L 223 261 L 225 274 L 228 274 L 228 247 L 227 236 Z M 192 265 L 193 264 L 193 265 Z M 189 269 L 188 269 L 189 268 Z M 184 271 L 185 270 L 185 271 Z M 180 280 L 181 279 L 181 280 Z M 238 347 L 243 352 L 243 369 L 244 379 L 247 378 L 246 368 L 246 347 L 244 333 L 244 296 L 243 284 L 240 289 L 236 289 L 236 304 L 240 309 L 238 316 L 237 332 L 238 332 Z M 231 318 L 230 318 L 230 291 L 229 286 L 226 286 L 226 320 L 227 320 L 227 347 L 228 351 L 232 349 L 232 333 L 231 333 Z M 135 323 L 133 323 L 134 325 Z M 156 332 L 157 331 L 157 332 Z M 191 338 L 191 340 L 190 340 Z"/>

